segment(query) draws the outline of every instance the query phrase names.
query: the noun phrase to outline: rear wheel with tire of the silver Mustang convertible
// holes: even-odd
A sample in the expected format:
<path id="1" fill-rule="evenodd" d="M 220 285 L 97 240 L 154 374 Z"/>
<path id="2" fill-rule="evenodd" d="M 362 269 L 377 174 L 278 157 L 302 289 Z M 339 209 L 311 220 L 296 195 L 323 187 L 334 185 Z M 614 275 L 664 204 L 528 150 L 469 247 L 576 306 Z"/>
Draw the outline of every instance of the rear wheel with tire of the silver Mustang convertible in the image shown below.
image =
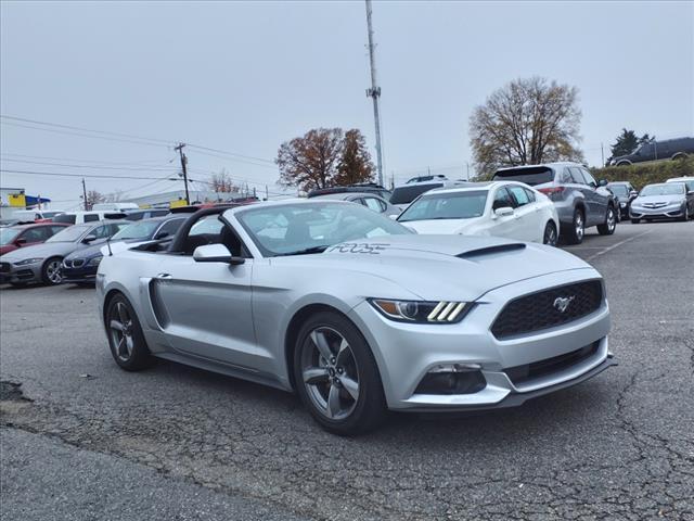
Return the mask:
<path id="1" fill-rule="evenodd" d="M 108 346 L 114 360 L 126 371 L 139 371 L 152 365 L 153 358 L 144 340 L 140 320 L 123 294 L 108 302 L 104 314 Z"/>

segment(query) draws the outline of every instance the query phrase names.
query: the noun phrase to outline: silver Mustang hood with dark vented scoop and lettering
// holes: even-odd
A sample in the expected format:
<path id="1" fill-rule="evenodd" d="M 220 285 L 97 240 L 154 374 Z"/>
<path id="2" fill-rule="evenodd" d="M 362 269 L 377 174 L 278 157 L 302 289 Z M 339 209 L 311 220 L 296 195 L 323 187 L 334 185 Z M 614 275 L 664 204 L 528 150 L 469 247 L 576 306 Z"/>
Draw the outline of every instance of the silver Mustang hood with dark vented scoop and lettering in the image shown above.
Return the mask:
<path id="1" fill-rule="evenodd" d="M 336 244 L 322 254 L 274 257 L 272 262 L 297 263 L 305 269 L 359 271 L 430 301 L 474 301 L 496 288 L 548 274 L 595 272 L 580 258 L 555 247 L 458 234 L 386 236 Z M 377 287 L 372 291 L 377 293 Z"/>

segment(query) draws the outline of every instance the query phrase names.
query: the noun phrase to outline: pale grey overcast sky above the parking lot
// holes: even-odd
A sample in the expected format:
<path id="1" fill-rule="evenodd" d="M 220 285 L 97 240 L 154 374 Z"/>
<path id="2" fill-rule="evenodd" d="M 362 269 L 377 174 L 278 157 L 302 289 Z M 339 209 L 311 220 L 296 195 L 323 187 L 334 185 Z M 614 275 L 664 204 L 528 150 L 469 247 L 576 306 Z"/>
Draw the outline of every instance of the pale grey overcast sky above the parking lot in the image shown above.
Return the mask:
<path id="1" fill-rule="evenodd" d="M 313 127 L 359 128 L 375 157 L 363 1 L 2 1 L 0 9 L 2 115 L 254 157 L 188 150 L 191 177 L 227 168 L 270 192 L 279 191 L 270 163 L 278 147 Z M 578 87 L 591 165 L 601 143 L 609 155 L 622 127 L 694 135 L 693 2 L 375 1 L 373 22 L 385 170 L 396 182 L 427 166 L 463 175 L 473 107 L 517 77 Z M 177 171 L 164 142 L 2 122 L 5 170 L 154 179 L 87 178 L 102 193 L 182 186 L 155 182 Z M 0 186 L 41 193 L 60 208 L 81 192 L 77 177 L 2 173 Z"/>

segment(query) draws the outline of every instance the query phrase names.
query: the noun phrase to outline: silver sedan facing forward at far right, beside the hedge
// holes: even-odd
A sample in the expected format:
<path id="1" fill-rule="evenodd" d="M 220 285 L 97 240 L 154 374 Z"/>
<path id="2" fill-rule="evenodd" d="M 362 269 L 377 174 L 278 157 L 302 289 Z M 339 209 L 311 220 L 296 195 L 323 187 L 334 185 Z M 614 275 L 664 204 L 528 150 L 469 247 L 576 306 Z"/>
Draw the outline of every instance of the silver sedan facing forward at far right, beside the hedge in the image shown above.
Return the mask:
<path id="1" fill-rule="evenodd" d="M 633 224 L 641 219 L 689 220 L 694 218 L 694 190 L 684 182 L 646 185 L 631 202 L 629 214 Z"/>

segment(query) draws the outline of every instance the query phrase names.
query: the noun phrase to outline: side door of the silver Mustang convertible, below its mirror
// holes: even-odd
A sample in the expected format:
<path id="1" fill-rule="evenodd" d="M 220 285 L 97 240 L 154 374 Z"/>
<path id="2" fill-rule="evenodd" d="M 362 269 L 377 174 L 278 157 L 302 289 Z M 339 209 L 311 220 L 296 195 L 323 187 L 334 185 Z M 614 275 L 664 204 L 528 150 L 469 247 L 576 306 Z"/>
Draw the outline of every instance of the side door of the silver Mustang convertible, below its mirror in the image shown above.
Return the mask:
<path id="1" fill-rule="evenodd" d="M 261 366 L 266 356 L 256 346 L 252 315 L 253 258 L 216 214 L 197 221 L 185 243 L 182 254 L 164 255 L 152 282 L 153 307 L 168 343 L 188 356 L 247 370 Z M 193 258 L 195 247 L 216 243 L 245 263 Z"/>

